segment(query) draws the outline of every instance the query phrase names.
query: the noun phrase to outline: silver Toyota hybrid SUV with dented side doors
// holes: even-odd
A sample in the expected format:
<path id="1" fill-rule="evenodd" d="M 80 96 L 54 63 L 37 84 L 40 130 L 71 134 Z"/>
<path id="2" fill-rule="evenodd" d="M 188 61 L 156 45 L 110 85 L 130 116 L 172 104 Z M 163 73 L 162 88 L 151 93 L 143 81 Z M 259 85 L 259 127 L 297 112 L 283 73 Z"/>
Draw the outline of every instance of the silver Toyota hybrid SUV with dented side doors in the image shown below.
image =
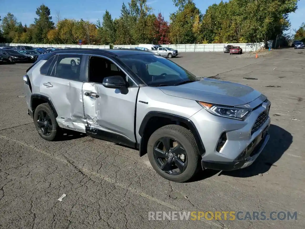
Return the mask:
<path id="1" fill-rule="evenodd" d="M 200 169 L 247 167 L 269 139 L 266 96 L 199 79 L 149 51 L 59 50 L 41 55 L 23 81 L 28 113 L 45 140 L 62 137 L 64 128 L 134 147 L 175 182 Z"/>

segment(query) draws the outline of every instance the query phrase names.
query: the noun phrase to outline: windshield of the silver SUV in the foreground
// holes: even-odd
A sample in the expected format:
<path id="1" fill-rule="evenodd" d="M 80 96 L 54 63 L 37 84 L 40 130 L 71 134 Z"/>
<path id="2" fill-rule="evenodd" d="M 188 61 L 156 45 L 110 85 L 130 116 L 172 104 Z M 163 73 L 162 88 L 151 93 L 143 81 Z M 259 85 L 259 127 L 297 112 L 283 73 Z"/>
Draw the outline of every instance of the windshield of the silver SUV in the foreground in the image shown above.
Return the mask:
<path id="1" fill-rule="evenodd" d="M 199 80 L 162 56 L 129 55 L 118 58 L 149 86 L 173 86 Z"/>

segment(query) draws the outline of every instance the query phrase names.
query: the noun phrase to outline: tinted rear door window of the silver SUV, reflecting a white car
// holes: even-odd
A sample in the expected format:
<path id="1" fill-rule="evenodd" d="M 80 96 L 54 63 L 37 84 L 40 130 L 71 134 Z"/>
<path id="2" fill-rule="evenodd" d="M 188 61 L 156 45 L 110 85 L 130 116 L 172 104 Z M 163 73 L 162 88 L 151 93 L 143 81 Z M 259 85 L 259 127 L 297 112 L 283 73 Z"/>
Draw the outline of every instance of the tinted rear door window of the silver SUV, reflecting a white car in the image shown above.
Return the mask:
<path id="1" fill-rule="evenodd" d="M 59 78 L 79 80 L 82 55 L 58 55 L 55 76 Z"/>

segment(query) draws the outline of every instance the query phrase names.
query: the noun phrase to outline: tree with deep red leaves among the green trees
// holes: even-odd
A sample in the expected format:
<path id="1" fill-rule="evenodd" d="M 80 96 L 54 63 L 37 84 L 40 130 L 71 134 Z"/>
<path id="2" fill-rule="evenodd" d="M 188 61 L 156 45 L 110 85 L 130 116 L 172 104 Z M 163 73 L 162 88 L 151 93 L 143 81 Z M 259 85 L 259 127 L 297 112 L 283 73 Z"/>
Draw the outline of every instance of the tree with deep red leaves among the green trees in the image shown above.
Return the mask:
<path id="1" fill-rule="evenodd" d="M 168 38 L 168 32 L 169 32 L 169 26 L 167 21 L 164 20 L 164 17 L 161 13 L 158 14 L 158 17 L 156 18 L 154 22 L 156 35 L 155 39 L 158 41 L 158 44 L 168 44 L 169 38 Z"/>

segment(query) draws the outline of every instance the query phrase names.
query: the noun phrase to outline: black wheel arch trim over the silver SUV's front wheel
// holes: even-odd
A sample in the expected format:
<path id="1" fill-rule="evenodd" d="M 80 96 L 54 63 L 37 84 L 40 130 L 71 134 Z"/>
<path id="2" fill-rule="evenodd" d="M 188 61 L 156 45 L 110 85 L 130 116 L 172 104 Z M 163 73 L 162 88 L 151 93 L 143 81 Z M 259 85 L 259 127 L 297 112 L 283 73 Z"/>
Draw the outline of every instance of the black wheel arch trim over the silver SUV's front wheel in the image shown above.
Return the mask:
<path id="1" fill-rule="evenodd" d="M 142 123 L 141 123 L 140 128 L 139 128 L 139 135 L 141 136 L 140 143 L 139 143 L 139 149 L 140 149 L 139 154 L 140 154 L 140 156 L 142 156 L 141 155 L 141 150 L 143 150 L 143 148 L 142 148 L 143 146 L 141 146 L 141 142 L 142 142 L 141 140 L 142 140 L 142 137 L 144 135 L 144 130 L 145 130 L 145 127 L 146 127 L 149 119 L 152 118 L 152 117 L 169 118 L 171 120 L 183 122 L 184 124 L 186 124 L 188 126 L 188 128 L 191 130 L 194 137 L 195 137 L 197 147 L 198 147 L 198 150 L 199 150 L 199 154 L 203 155 L 205 153 L 205 148 L 204 148 L 203 142 L 200 138 L 199 132 L 198 132 L 195 124 L 190 119 L 182 117 L 180 115 L 173 115 L 173 114 L 166 113 L 166 112 L 150 111 L 143 118 Z"/>

